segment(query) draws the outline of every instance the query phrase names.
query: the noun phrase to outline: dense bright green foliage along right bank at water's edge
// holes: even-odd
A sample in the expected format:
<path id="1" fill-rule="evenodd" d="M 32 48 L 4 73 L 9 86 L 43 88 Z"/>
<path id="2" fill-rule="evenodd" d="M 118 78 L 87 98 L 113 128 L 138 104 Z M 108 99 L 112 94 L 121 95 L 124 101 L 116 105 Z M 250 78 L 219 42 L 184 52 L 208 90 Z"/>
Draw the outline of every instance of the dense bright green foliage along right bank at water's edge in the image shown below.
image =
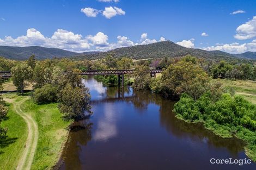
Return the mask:
<path id="1" fill-rule="evenodd" d="M 247 153 L 256 161 L 256 106 L 241 96 L 223 93 L 214 102 L 209 92 L 198 100 L 183 93 L 174 112 L 187 121 L 203 122 L 206 128 L 223 137 L 241 138 L 247 142 Z"/>

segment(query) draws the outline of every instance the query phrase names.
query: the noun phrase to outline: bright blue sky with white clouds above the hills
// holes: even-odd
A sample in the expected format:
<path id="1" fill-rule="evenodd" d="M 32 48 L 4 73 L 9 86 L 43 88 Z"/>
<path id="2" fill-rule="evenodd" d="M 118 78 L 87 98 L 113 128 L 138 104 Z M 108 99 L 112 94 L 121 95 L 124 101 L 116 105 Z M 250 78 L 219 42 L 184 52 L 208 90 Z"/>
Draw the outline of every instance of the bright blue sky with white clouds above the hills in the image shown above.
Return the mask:
<path id="1" fill-rule="evenodd" d="M 256 52 L 256 1 L 0 1 L 1 46 L 87 52 L 164 40 L 232 54 Z"/>

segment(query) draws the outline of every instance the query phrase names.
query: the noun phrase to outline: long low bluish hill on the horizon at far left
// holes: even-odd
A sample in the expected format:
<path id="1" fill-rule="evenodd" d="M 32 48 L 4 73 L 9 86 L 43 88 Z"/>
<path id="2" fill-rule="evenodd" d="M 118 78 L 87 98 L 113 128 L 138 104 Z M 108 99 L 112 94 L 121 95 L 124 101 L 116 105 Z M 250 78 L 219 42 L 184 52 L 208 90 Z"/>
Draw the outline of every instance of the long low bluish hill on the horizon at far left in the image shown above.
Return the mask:
<path id="1" fill-rule="evenodd" d="M 51 59 L 75 56 L 79 53 L 74 53 L 58 48 L 46 48 L 39 46 L 31 47 L 11 47 L 11 46 L 0 46 L 0 56 L 4 56 L 8 59 L 26 60 L 32 54 L 35 55 L 36 59 Z M 91 53 L 90 53 L 91 54 Z"/>

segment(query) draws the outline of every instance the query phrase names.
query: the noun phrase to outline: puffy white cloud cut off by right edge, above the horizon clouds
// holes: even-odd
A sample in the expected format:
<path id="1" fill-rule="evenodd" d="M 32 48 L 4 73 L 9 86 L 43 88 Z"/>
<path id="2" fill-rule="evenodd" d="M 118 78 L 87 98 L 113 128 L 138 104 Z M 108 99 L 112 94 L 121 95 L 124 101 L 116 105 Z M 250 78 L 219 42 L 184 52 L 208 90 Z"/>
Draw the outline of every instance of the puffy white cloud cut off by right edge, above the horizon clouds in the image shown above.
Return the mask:
<path id="1" fill-rule="evenodd" d="M 256 16 L 254 16 L 252 20 L 237 27 L 234 37 L 237 40 L 247 40 L 256 37 Z"/>

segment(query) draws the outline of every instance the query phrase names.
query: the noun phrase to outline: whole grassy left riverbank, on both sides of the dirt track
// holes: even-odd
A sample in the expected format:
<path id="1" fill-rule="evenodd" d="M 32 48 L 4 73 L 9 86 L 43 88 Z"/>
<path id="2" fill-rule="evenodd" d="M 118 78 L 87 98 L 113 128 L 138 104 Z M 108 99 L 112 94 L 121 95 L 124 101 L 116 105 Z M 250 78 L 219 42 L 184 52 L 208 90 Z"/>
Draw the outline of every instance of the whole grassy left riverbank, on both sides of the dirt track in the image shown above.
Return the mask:
<path id="1" fill-rule="evenodd" d="M 19 101 L 24 101 L 16 110 L 20 110 L 20 114 L 33 119 L 38 129 L 31 128 L 31 130 L 37 131 L 38 134 L 34 135 L 38 135 L 38 140 L 33 141 L 32 146 L 27 146 L 27 125 L 23 118 L 17 114 L 13 104 L 10 104 L 9 119 L 3 122 L 3 126 L 8 127 L 8 137 L 16 137 L 17 140 L 1 149 L 3 153 L 0 154 L 0 158 L 5 161 L 0 162 L 0 169 L 15 169 L 22 156 L 22 150 L 28 147 L 31 147 L 30 150 L 35 147 L 31 169 L 50 169 L 58 161 L 62 146 L 68 135 L 68 130 L 65 128 L 68 127 L 69 122 L 62 120 L 57 104 L 37 105 L 33 103 L 31 97 L 17 96 L 15 93 L 5 94 L 4 98 L 7 102 L 14 103 L 14 105 L 17 105 Z M 28 150 L 28 157 L 30 150 Z M 10 154 L 13 156 L 9 156 Z M 10 158 L 6 159 L 8 157 Z M 26 159 L 25 166 L 28 162 L 29 159 Z"/>

